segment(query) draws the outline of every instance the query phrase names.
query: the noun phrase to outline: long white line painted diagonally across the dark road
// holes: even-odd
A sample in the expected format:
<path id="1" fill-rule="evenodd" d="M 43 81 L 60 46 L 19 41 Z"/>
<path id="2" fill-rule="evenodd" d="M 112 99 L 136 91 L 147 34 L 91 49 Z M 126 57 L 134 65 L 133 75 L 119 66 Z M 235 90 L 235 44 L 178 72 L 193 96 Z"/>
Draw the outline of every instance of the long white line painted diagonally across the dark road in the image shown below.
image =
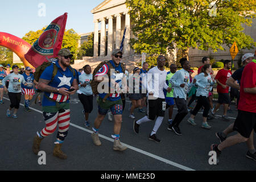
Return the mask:
<path id="1" fill-rule="evenodd" d="M 6 99 L 6 100 L 9 100 L 9 98 L 6 98 L 6 97 L 3 97 L 3 98 Z M 9 101 L 10 101 L 10 100 L 9 100 Z M 24 106 L 23 104 L 20 104 L 20 105 L 21 105 L 21 106 Z M 37 110 L 37 109 L 34 109 L 34 108 L 32 108 L 32 107 L 30 107 L 30 109 L 31 109 L 31 110 L 34 110 L 34 111 L 37 111 L 38 113 L 43 113 L 42 111 Z M 75 125 L 75 124 L 73 124 L 73 123 L 70 123 L 70 125 L 73 126 L 73 127 L 76 127 L 77 129 L 86 131 L 86 132 L 88 132 L 88 133 L 93 133 L 93 131 L 88 130 L 88 129 L 84 129 L 83 127 L 78 126 L 78 125 Z M 106 139 L 106 140 L 109 140 L 110 142 L 114 142 L 114 139 L 109 138 L 109 137 L 106 137 L 105 135 L 99 134 L 98 136 L 101 137 L 101 138 L 104 138 L 104 139 Z M 192 169 L 192 168 L 189 168 L 189 167 L 185 167 L 185 166 L 183 166 L 183 165 L 181 165 L 181 164 L 172 162 L 171 160 L 168 160 L 168 159 L 161 158 L 160 156 L 157 156 L 157 155 L 151 154 L 151 153 L 149 153 L 149 152 L 147 152 L 147 151 L 143 151 L 143 150 L 141 150 L 141 149 L 139 149 L 139 148 L 130 146 L 129 144 L 125 144 L 125 143 L 122 143 L 122 144 L 123 144 L 123 146 L 126 146 L 127 148 L 130 148 L 131 150 L 137 151 L 137 152 L 139 152 L 139 153 L 141 153 L 141 154 L 143 154 L 143 155 L 150 156 L 151 158 L 154 158 L 154 159 L 156 159 L 156 160 L 160 160 L 160 161 L 162 161 L 162 162 L 164 162 L 164 163 L 170 164 L 171 166 L 174 166 L 174 167 L 183 169 L 183 170 L 185 170 L 185 171 L 196 171 L 195 169 Z"/>

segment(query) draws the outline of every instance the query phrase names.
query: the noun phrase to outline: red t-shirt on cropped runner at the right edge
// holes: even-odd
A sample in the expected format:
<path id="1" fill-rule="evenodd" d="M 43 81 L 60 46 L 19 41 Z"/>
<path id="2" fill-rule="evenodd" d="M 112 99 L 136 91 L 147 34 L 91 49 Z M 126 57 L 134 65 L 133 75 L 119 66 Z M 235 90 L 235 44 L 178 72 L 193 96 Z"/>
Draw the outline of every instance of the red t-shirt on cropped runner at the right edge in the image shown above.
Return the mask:
<path id="1" fill-rule="evenodd" d="M 239 110 L 256 113 L 256 94 L 243 91 L 243 88 L 254 87 L 256 87 L 256 63 L 251 62 L 243 69 L 238 103 Z"/>

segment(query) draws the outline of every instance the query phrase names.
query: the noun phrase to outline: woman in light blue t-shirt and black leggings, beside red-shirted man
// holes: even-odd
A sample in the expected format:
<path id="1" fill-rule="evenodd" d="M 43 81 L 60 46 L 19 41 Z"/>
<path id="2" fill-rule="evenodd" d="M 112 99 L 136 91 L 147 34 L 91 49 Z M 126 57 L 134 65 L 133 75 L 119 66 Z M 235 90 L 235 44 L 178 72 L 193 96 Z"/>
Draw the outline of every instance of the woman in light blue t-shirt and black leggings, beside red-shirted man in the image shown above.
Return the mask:
<path id="1" fill-rule="evenodd" d="M 197 104 L 195 109 L 193 109 L 191 117 L 188 118 L 188 122 L 191 123 L 191 125 L 195 126 L 195 117 L 198 111 L 201 109 L 202 106 L 204 106 L 204 113 L 203 113 L 203 123 L 201 127 L 205 129 L 210 129 L 211 126 L 207 123 L 207 116 L 210 110 L 210 105 L 208 101 L 210 86 L 214 85 L 215 82 L 212 81 L 212 78 L 210 76 L 211 66 L 210 64 L 205 64 L 201 68 L 201 73 L 197 76 L 195 76 L 196 79 L 196 86 L 198 86 L 196 97 L 197 97 Z"/>

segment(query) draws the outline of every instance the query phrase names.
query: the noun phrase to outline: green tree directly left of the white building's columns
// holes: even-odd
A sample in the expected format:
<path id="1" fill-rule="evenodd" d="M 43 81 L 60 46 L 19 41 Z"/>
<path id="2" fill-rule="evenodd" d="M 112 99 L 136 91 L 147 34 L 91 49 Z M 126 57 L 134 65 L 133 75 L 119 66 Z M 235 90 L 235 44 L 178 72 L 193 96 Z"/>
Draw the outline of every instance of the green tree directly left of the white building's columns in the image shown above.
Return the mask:
<path id="1" fill-rule="evenodd" d="M 82 59 L 82 56 L 93 56 L 93 34 L 89 35 L 79 48 L 77 59 Z"/>

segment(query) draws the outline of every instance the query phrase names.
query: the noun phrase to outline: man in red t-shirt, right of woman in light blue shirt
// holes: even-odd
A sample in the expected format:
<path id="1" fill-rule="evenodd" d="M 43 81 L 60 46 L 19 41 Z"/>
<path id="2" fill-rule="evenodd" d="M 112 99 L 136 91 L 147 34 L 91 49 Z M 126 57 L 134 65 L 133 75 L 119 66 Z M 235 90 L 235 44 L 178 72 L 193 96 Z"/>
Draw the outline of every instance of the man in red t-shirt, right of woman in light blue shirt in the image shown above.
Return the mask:
<path id="1" fill-rule="evenodd" d="M 217 82 L 217 92 L 218 92 L 218 103 L 216 104 L 216 107 L 212 111 L 213 116 L 215 117 L 215 113 L 218 110 L 218 108 L 224 104 L 224 111 L 222 115 L 222 119 L 224 121 L 230 121 L 230 119 L 226 116 L 226 113 L 228 111 L 228 106 L 230 102 L 229 97 L 229 86 L 226 85 L 226 81 L 228 78 L 232 75 L 232 72 L 230 71 L 230 68 L 232 66 L 232 63 L 230 60 L 224 61 L 224 68 L 220 69 L 215 76 L 215 80 Z"/>

